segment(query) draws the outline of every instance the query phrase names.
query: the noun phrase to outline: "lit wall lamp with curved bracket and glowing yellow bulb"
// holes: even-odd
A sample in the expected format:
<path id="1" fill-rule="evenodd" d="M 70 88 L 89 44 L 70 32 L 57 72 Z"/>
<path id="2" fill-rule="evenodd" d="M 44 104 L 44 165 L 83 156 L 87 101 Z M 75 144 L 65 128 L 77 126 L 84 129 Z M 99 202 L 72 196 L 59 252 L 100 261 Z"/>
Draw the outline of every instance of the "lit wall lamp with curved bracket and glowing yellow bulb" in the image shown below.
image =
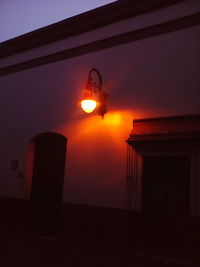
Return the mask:
<path id="1" fill-rule="evenodd" d="M 99 71 L 92 68 L 88 74 L 81 107 L 86 113 L 92 113 L 96 108 L 98 114 L 104 118 L 107 113 L 106 101 L 108 94 L 102 90 L 102 77 Z"/>

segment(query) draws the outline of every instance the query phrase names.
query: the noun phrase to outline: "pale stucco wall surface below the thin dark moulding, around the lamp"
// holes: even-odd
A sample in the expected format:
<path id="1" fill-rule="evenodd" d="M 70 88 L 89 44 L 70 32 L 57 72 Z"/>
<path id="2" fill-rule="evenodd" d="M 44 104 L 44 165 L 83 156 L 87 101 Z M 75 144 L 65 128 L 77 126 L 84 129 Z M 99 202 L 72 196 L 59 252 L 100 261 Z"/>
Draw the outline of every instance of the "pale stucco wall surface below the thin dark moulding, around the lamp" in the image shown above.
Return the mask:
<path id="1" fill-rule="evenodd" d="M 0 78 L 0 195 L 24 197 L 29 142 L 43 132 L 68 138 L 64 202 L 124 207 L 132 120 L 200 113 L 199 26 Z M 84 114 L 91 67 L 109 94 L 104 120 Z M 19 179 L 10 161 L 19 160 Z"/>

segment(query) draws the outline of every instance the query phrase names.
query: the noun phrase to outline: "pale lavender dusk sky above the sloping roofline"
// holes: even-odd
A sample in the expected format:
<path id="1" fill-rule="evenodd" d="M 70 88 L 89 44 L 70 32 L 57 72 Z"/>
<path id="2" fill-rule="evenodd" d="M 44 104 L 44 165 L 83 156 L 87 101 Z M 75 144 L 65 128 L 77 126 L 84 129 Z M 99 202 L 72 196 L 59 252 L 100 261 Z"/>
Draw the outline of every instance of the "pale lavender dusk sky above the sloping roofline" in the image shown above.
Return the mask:
<path id="1" fill-rule="evenodd" d="M 0 42 L 116 0 L 0 0 Z"/>

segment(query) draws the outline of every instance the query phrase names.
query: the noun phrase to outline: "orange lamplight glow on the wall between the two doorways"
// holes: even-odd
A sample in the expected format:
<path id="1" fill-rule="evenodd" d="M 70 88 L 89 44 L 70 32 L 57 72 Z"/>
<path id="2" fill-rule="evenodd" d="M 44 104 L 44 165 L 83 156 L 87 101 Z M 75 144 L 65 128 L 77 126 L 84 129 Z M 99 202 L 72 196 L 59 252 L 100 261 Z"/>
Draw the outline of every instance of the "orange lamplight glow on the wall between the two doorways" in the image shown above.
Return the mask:
<path id="1" fill-rule="evenodd" d="M 91 115 L 77 111 L 53 130 L 68 138 L 63 201 L 117 207 L 124 203 L 125 141 L 137 111 L 110 110 L 103 120 Z"/>

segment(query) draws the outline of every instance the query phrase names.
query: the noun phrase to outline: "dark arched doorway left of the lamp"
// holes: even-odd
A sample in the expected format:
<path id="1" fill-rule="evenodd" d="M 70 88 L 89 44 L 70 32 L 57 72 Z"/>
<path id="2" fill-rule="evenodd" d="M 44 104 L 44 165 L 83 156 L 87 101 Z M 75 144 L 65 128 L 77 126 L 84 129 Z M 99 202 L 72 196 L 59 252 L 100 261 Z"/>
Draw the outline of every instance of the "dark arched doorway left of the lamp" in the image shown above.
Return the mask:
<path id="1" fill-rule="evenodd" d="M 31 232 L 56 235 L 62 205 L 67 139 L 45 133 L 34 139 L 31 189 Z"/>

